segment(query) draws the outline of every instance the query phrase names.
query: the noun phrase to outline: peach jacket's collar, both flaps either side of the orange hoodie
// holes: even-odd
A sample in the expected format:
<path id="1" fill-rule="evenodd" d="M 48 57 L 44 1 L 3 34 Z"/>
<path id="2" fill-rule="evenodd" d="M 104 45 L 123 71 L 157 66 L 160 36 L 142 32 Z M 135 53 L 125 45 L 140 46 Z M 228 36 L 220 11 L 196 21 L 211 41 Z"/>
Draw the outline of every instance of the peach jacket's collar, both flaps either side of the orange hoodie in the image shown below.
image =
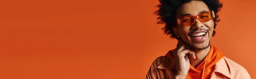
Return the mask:
<path id="1" fill-rule="evenodd" d="M 175 69 L 175 62 L 173 61 L 173 59 L 170 59 L 167 56 L 165 56 L 165 59 L 157 68 L 160 68 L 160 69 L 173 68 L 173 69 Z M 215 64 L 214 72 L 221 73 L 224 76 L 231 78 L 229 69 L 227 67 L 227 64 L 226 64 L 224 58 L 222 58 L 220 61 L 218 61 Z"/>

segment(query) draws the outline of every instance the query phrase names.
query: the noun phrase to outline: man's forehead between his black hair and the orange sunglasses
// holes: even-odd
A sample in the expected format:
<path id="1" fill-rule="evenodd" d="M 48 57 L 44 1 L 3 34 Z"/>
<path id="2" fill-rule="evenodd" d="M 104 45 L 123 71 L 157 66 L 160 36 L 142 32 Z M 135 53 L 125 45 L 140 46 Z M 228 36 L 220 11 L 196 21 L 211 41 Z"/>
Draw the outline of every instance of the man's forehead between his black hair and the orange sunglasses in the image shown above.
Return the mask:
<path id="1" fill-rule="evenodd" d="M 209 8 L 204 2 L 193 0 L 177 8 L 177 17 L 181 17 L 183 14 L 196 16 L 200 11 L 209 11 Z"/>

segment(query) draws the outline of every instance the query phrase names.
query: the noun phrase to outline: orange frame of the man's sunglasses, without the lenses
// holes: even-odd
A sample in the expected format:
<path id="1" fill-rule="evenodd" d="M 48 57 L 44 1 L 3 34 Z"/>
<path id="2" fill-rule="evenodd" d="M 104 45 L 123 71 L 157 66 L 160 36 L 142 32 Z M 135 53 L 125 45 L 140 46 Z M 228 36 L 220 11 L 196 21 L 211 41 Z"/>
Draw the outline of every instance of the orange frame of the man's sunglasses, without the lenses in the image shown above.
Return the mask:
<path id="1" fill-rule="evenodd" d="M 193 21 L 192 24 L 195 23 L 195 20 L 196 20 L 196 19 L 198 19 L 200 22 L 207 22 L 207 21 L 209 21 L 209 20 L 207 20 L 207 21 L 202 21 L 202 20 L 200 20 L 200 18 L 199 18 L 199 16 L 200 16 L 201 14 L 204 14 L 204 13 L 212 14 L 212 18 L 211 18 L 210 20 L 212 20 L 212 19 L 215 17 L 214 11 L 205 11 L 205 12 L 203 12 L 203 13 L 198 14 L 197 16 L 186 15 L 186 16 L 182 16 L 182 17 L 180 17 L 180 18 L 183 18 L 183 17 L 193 17 L 194 21 Z M 180 22 L 180 18 L 177 18 L 177 24 L 178 24 L 178 25 L 182 25 L 181 22 Z M 192 25 L 192 24 L 186 24 L 186 25 Z"/>

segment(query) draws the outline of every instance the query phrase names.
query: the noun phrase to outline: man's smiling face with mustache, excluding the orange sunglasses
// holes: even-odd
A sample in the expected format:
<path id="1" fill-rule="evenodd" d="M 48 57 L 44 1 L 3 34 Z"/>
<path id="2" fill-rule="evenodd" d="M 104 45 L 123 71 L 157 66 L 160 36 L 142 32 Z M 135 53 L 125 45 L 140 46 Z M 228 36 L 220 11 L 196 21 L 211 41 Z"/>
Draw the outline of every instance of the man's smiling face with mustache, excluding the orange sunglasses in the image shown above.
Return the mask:
<path id="1" fill-rule="evenodd" d="M 176 17 L 180 18 L 186 15 L 197 16 L 205 11 L 209 11 L 209 8 L 204 2 L 191 1 L 177 8 Z M 192 25 L 177 25 L 177 27 L 174 28 L 174 33 L 192 48 L 204 50 L 209 47 L 209 42 L 214 30 L 213 26 L 213 20 L 201 22 L 195 19 L 195 23 Z"/>

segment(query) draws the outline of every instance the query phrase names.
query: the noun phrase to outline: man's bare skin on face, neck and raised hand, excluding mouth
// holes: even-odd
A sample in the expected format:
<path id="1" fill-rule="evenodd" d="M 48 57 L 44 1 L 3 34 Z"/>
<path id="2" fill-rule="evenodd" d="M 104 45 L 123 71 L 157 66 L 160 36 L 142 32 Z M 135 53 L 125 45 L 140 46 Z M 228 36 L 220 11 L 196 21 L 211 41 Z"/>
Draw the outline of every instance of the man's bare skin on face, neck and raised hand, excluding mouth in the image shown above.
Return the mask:
<path id="1" fill-rule="evenodd" d="M 204 11 L 209 11 L 209 8 L 204 2 L 191 1 L 177 8 L 176 17 L 181 17 L 184 14 L 197 16 Z M 210 51 L 209 43 L 214 30 L 213 26 L 213 20 L 201 23 L 196 19 L 192 25 L 177 25 L 174 28 L 175 35 L 180 38 L 177 44 L 177 50 L 173 53 L 177 69 L 175 79 L 186 78 L 189 71 L 189 64 L 196 68 L 203 62 Z M 197 40 L 195 37 L 192 37 L 197 32 L 206 32 L 203 40 Z"/>

